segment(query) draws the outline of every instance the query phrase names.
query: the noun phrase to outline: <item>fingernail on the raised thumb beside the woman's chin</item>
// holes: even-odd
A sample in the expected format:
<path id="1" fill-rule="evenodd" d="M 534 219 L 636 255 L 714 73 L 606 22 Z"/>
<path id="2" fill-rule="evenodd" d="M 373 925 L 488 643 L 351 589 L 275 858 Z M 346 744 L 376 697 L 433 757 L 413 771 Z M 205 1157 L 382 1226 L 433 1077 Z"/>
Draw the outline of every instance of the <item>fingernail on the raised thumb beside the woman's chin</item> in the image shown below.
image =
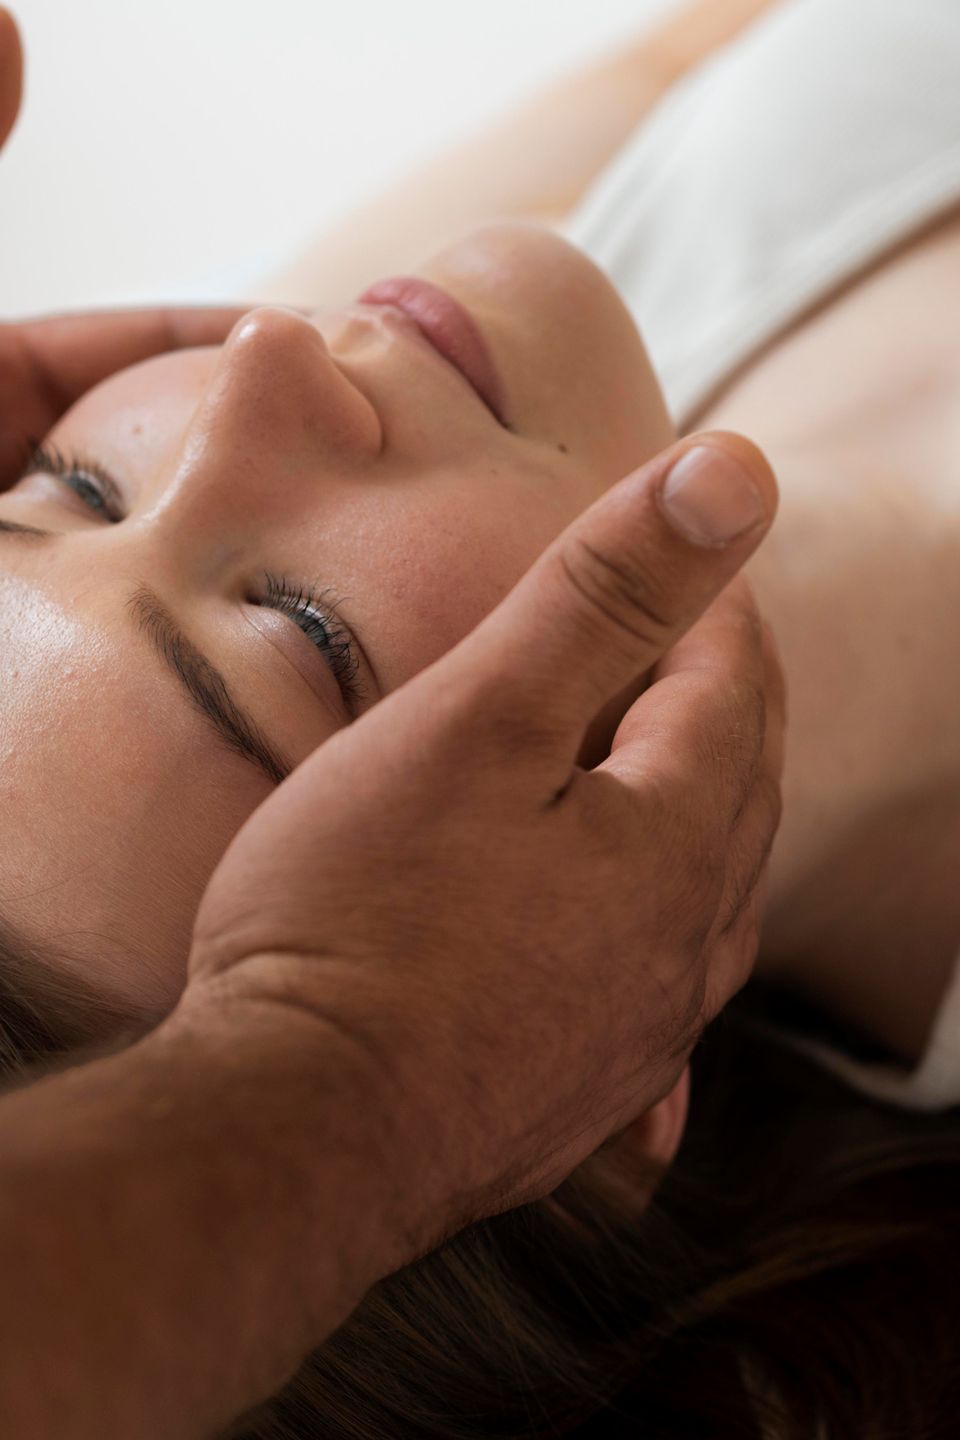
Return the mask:
<path id="1" fill-rule="evenodd" d="M 711 445 L 681 455 L 661 485 L 661 507 L 674 530 L 702 546 L 730 544 L 767 514 L 748 471 Z"/>

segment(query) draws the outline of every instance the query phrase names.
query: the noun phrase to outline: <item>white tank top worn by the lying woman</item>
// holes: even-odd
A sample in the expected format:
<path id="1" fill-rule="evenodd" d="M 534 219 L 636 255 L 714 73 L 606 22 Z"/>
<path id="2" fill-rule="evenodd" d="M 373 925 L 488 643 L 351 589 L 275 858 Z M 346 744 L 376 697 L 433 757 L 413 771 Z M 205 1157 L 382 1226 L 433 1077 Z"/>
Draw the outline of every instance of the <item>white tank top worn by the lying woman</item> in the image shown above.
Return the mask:
<path id="1" fill-rule="evenodd" d="M 671 89 L 564 233 L 620 291 L 682 431 L 760 347 L 959 203 L 960 0 L 784 0 Z M 960 960 L 913 1070 L 776 1032 L 866 1094 L 960 1104 Z"/>

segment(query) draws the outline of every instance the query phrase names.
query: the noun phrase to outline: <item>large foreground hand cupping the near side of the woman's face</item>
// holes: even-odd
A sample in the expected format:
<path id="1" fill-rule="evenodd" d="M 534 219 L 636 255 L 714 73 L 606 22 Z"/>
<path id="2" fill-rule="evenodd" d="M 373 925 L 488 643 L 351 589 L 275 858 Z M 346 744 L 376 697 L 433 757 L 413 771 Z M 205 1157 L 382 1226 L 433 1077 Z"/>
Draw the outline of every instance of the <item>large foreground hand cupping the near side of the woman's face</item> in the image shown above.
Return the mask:
<path id="1" fill-rule="evenodd" d="M 692 445 L 707 520 L 756 495 L 725 547 L 662 507 Z M 397 1263 L 556 1188 L 669 1093 L 747 979 L 783 687 L 730 582 L 774 508 L 748 442 L 674 446 L 322 744 L 212 877 L 181 1005 L 281 1004 L 291 1053 L 304 1030 L 307 1048 L 347 1037 L 380 1102 L 356 1123 L 383 1123 L 402 1191 Z M 593 717 L 655 664 L 609 757 L 579 766 Z"/>

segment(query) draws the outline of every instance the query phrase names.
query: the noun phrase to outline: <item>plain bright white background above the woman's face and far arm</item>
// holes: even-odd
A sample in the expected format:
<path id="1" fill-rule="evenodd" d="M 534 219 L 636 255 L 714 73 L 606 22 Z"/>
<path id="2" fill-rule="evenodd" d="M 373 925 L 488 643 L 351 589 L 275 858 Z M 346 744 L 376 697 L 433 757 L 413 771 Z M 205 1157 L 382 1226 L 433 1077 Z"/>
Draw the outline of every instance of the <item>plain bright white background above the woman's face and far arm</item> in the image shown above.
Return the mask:
<path id="1" fill-rule="evenodd" d="M 0 314 L 22 315 L 237 298 L 232 276 L 676 0 L 9 3 Z"/>

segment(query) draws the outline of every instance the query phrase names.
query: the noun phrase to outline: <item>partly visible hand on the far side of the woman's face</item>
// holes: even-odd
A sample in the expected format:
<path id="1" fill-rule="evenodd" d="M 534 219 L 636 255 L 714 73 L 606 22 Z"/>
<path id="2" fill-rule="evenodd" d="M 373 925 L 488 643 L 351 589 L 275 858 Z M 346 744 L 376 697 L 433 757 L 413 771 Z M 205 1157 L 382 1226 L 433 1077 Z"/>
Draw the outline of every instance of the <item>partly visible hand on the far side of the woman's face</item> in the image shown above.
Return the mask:
<path id="1" fill-rule="evenodd" d="M 0 7 L 0 145 L 20 108 L 23 50 Z M 167 350 L 222 344 L 248 307 L 155 308 L 0 324 L 0 490 L 13 484 L 30 441 L 94 384 Z"/>

